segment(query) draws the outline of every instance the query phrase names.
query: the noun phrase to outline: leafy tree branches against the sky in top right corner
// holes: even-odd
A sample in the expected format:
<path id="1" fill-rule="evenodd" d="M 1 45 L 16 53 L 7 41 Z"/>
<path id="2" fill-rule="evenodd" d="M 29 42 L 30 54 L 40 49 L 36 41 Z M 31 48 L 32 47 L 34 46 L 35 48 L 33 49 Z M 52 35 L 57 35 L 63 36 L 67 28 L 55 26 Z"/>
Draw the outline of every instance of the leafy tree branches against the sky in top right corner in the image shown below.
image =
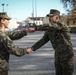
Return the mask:
<path id="1" fill-rule="evenodd" d="M 68 15 L 72 15 L 72 17 L 76 17 L 76 0 L 60 0 L 60 1 L 67 9 Z"/>

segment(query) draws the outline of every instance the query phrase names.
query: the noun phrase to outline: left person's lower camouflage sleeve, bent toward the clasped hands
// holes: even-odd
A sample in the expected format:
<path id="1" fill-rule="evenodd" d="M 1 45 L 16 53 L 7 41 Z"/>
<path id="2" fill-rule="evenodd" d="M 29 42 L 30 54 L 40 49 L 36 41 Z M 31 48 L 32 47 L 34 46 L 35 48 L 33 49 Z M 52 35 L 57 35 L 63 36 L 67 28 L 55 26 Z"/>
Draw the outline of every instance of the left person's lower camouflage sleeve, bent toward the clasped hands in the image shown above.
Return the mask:
<path id="1" fill-rule="evenodd" d="M 16 47 L 9 37 L 3 37 L 2 45 L 4 47 L 4 50 L 6 50 L 9 54 L 16 56 L 23 56 L 26 54 L 26 49 Z"/>

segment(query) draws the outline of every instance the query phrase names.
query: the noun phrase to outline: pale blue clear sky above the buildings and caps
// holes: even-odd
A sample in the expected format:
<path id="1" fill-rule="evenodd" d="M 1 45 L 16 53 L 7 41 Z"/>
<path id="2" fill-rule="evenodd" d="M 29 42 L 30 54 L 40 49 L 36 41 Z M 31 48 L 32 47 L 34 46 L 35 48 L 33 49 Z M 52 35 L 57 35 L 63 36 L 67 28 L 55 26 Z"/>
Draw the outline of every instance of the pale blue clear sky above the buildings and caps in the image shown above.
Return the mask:
<path id="1" fill-rule="evenodd" d="M 17 19 L 17 21 L 24 21 L 28 17 L 45 17 L 50 9 L 58 9 L 61 14 L 66 14 L 66 9 L 60 0 L 0 0 L 0 12 L 4 12 L 11 18 Z"/>

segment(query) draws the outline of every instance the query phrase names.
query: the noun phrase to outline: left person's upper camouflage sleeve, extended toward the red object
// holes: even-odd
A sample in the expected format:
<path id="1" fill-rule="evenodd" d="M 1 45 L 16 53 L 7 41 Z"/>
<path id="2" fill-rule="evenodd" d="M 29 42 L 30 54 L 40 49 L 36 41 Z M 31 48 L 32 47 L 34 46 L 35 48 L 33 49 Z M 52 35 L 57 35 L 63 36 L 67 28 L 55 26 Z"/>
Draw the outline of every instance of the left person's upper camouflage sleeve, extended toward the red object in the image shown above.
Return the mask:
<path id="1" fill-rule="evenodd" d="M 16 31 L 16 32 L 5 32 L 5 34 L 7 36 L 9 36 L 9 38 L 11 40 L 18 40 L 20 38 L 22 38 L 23 36 L 26 36 L 27 35 L 27 32 L 25 30 L 23 31 Z"/>

